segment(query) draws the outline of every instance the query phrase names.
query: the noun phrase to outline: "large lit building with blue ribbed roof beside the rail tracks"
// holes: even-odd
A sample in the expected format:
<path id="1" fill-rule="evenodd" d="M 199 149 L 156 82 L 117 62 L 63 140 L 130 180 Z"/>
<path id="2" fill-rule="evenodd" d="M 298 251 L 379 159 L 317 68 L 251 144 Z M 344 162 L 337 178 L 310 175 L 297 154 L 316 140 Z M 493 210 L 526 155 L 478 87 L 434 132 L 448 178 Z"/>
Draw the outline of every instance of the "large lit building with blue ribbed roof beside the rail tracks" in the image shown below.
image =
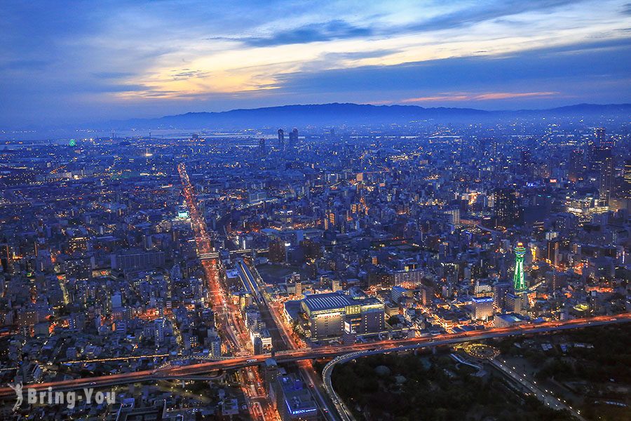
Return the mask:
<path id="1" fill-rule="evenodd" d="M 301 301 L 311 340 L 339 338 L 344 333 L 371 335 L 385 329 L 386 307 L 376 298 L 353 300 L 344 293 L 308 295 Z"/>

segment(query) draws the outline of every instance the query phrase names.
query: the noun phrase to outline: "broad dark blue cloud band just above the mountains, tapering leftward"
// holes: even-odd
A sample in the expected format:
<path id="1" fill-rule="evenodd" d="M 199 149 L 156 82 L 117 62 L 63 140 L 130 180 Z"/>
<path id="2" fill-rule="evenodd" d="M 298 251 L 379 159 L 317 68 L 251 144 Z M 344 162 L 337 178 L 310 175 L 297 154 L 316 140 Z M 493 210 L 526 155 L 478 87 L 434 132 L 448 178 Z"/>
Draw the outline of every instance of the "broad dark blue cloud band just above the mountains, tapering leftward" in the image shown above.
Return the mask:
<path id="1" fill-rule="evenodd" d="M 615 60 L 613 58 L 615 57 Z M 574 95 L 590 84 L 609 88 L 592 93 L 610 95 L 609 101 L 631 96 L 627 83 L 631 67 L 631 39 L 545 48 L 504 57 L 475 56 L 410 62 L 393 66 L 364 66 L 287 74 L 279 81 L 281 91 L 292 95 L 372 92 L 414 96 L 414 93 L 531 89 Z M 541 88 L 541 87 L 545 87 Z M 280 92 L 278 92 L 280 93 Z M 615 96 L 611 96 L 614 94 Z M 401 96 L 404 95 L 404 96 Z M 572 102 L 567 98 L 565 103 Z"/>

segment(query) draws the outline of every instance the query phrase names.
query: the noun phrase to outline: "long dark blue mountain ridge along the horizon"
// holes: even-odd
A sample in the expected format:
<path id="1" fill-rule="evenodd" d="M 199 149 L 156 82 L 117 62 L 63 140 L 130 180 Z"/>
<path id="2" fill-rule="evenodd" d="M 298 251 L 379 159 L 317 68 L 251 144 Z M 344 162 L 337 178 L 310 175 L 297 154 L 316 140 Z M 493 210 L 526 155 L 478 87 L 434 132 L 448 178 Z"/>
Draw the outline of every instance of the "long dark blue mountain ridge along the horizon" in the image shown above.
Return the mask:
<path id="1" fill-rule="evenodd" d="M 261 128 L 293 126 L 378 125 L 410 121 L 469 121 L 501 119 L 507 116 L 631 115 L 631 104 L 579 104 L 552 109 L 483 111 L 472 108 L 425 108 L 416 105 L 360 105 L 332 103 L 284 105 L 225 112 L 189 112 L 158 119 L 112 121 L 117 128 Z"/>

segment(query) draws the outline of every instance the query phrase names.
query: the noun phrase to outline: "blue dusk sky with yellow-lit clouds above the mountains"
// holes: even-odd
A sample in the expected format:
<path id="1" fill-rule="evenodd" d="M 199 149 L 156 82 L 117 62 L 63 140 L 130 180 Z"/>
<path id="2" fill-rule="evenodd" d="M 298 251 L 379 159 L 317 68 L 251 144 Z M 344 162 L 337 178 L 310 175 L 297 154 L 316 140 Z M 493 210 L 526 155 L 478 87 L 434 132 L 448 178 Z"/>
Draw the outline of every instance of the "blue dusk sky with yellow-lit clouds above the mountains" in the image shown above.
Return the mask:
<path id="1" fill-rule="evenodd" d="M 0 128 L 631 102 L 628 0 L 0 0 Z"/>

